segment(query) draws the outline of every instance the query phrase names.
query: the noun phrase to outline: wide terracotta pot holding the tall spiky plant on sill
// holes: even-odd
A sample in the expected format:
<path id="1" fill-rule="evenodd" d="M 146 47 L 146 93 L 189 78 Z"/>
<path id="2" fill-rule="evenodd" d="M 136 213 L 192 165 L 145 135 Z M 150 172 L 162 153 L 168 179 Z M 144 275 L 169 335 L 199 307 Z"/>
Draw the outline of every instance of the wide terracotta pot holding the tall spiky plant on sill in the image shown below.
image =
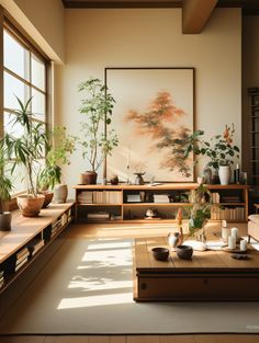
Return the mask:
<path id="1" fill-rule="evenodd" d="M 32 195 L 19 195 L 16 197 L 18 206 L 24 217 L 37 217 L 44 203 L 45 196 L 38 194 L 36 197 Z"/>

